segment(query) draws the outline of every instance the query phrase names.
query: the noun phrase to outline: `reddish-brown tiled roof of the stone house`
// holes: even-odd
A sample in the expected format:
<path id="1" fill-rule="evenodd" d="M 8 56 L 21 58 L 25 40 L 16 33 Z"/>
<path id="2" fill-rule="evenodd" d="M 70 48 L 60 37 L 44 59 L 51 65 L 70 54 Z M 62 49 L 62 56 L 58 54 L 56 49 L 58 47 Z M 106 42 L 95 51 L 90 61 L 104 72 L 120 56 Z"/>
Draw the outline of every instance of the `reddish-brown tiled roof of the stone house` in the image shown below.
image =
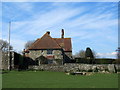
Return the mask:
<path id="1" fill-rule="evenodd" d="M 28 50 L 31 49 L 63 49 L 64 51 L 72 51 L 71 38 L 52 38 L 48 33 L 45 33 L 28 48 Z"/>

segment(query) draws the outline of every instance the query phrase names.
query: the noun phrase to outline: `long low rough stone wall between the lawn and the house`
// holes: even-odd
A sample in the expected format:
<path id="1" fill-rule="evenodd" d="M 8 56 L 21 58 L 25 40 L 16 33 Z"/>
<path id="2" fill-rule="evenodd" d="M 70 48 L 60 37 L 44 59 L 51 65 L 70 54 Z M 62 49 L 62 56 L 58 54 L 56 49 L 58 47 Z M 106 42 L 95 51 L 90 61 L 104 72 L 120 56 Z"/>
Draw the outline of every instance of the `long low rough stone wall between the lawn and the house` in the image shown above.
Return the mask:
<path id="1" fill-rule="evenodd" d="M 40 65 L 29 66 L 30 70 L 45 70 L 45 71 L 59 71 L 59 72 L 116 72 L 120 71 L 120 65 L 117 64 L 76 64 L 66 63 L 64 65 Z"/>

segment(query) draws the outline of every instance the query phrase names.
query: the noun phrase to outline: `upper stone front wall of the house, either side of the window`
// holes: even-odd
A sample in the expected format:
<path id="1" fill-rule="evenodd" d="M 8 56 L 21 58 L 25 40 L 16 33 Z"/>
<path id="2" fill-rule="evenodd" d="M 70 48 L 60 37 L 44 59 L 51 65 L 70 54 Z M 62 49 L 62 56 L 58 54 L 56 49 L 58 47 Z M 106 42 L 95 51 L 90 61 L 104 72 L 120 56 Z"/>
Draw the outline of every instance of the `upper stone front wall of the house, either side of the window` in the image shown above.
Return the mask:
<path id="1" fill-rule="evenodd" d="M 47 56 L 47 50 L 30 50 L 28 56 L 35 60 L 39 56 Z M 55 59 L 63 59 L 62 51 L 61 50 L 53 50 L 53 54 Z"/>

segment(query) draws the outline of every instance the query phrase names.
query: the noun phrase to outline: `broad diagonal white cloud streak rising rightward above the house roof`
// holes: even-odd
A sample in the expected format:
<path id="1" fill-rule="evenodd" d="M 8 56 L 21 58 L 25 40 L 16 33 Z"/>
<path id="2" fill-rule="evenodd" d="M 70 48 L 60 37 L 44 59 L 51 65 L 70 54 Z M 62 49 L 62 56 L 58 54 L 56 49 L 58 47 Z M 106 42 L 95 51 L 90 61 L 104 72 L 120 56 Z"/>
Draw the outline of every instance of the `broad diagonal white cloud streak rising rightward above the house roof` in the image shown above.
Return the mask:
<path id="1" fill-rule="evenodd" d="M 83 10 L 79 8 L 57 8 L 43 14 L 33 15 L 33 18 L 31 18 L 30 21 L 13 22 L 13 30 L 20 29 L 24 34 L 38 35 L 42 30 L 56 27 L 57 24 L 62 24 L 66 19 L 69 19 L 82 11 Z"/>

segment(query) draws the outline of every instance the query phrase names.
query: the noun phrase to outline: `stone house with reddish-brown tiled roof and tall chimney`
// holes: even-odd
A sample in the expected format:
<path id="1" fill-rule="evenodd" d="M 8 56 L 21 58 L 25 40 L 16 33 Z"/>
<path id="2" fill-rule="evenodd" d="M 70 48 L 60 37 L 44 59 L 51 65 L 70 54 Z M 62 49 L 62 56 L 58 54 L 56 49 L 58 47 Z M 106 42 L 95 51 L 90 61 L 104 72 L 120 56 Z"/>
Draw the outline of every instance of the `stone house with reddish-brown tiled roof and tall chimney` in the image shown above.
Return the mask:
<path id="1" fill-rule="evenodd" d="M 54 60 L 61 60 L 62 63 L 70 62 L 72 59 L 71 38 L 64 38 L 64 29 L 61 32 L 61 38 L 52 38 L 50 32 L 47 31 L 25 50 L 25 56 L 33 60 L 44 56 L 48 63 L 53 63 Z"/>

